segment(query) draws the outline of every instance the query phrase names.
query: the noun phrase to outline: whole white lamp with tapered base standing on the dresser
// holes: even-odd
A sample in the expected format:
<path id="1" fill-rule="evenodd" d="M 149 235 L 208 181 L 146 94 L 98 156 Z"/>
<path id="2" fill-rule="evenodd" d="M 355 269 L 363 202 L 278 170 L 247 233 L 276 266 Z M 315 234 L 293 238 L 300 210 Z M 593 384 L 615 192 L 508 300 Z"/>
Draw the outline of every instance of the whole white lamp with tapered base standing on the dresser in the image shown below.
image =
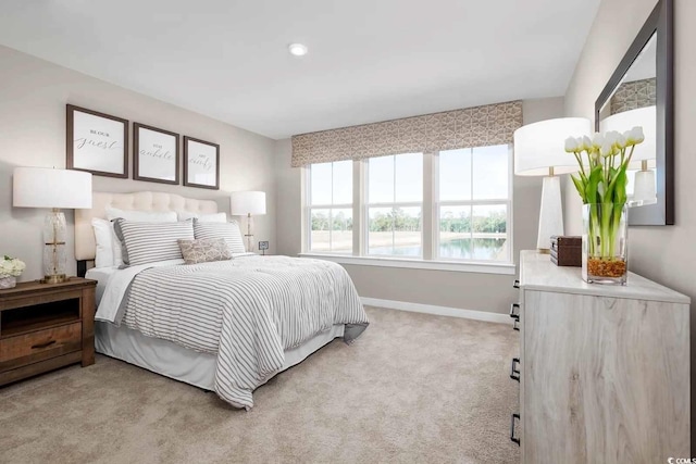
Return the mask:
<path id="1" fill-rule="evenodd" d="M 566 153 L 566 139 L 588 135 L 591 123 L 585 117 L 542 121 L 514 131 L 514 174 L 545 176 L 536 238 L 536 247 L 540 252 L 549 251 L 552 235 L 563 235 L 563 208 L 558 174 L 579 170 L 575 158 Z"/>

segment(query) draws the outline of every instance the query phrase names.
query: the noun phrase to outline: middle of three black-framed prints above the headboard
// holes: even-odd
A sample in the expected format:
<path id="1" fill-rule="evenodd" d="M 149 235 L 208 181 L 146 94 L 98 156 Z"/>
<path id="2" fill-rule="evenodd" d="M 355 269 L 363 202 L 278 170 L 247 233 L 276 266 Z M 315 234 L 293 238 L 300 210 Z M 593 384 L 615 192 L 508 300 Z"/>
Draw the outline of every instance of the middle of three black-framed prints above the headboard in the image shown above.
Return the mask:
<path id="1" fill-rule="evenodd" d="M 178 134 L 133 123 L 133 178 L 178 185 Z"/>

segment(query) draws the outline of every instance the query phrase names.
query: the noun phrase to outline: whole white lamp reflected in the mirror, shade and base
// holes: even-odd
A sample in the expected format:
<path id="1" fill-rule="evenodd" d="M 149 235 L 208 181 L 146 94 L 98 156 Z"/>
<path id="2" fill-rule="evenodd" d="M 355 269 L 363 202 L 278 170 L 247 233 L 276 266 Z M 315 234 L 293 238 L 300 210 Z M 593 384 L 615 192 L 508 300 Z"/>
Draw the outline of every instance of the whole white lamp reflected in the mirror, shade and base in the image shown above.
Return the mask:
<path id="1" fill-rule="evenodd" d="M 645 140 L 635 146 L 629 170 L 641 170 L 635 173 L 633 190 L 630 195 L 631 205 L 650 204 L 657 201 L 655 188 L 655 160 L 657 158 L 657 106 L 638 108 L 612 114 L 599 122 L 599 128 L 624 133 L 635 126 L 643 127 Z"/>

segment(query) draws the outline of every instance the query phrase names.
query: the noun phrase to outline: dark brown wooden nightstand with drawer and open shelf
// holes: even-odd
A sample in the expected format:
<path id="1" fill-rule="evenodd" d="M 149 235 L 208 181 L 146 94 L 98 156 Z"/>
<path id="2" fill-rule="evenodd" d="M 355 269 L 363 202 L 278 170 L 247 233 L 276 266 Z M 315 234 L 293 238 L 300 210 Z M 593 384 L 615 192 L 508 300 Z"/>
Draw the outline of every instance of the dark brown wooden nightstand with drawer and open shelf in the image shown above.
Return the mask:
<path id="1" fill-rule="evenodd" d="M 0 385 L 95 363 L 96 280 L 17 284 L 0 290 Z"/>

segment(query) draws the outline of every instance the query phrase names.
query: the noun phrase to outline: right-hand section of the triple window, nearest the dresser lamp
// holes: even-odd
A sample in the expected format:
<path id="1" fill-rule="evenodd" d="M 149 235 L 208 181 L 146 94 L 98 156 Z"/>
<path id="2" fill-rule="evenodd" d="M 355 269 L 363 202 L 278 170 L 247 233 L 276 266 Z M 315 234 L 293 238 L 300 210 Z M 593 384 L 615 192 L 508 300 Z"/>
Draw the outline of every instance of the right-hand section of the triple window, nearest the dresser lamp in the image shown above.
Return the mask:
<path id="1" fill-rule="evenodd" d="M 511 261 L 509 151 L 502 145 L 439 152 L 437 258 Z"/>

